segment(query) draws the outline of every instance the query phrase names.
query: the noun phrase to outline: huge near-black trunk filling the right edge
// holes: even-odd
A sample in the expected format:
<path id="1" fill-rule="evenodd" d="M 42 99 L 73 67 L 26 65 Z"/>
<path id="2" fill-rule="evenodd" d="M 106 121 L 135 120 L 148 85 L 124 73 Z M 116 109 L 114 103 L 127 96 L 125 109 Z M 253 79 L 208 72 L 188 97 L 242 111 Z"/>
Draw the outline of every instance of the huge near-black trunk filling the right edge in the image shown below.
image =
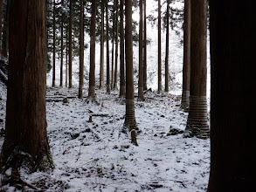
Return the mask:
<path id="1" fill-rule="evenodd" d="M 208 192 L 253 191 L 256 179 L 255 9 L 247 1 L 210 1 L 210 13 Z"/>

